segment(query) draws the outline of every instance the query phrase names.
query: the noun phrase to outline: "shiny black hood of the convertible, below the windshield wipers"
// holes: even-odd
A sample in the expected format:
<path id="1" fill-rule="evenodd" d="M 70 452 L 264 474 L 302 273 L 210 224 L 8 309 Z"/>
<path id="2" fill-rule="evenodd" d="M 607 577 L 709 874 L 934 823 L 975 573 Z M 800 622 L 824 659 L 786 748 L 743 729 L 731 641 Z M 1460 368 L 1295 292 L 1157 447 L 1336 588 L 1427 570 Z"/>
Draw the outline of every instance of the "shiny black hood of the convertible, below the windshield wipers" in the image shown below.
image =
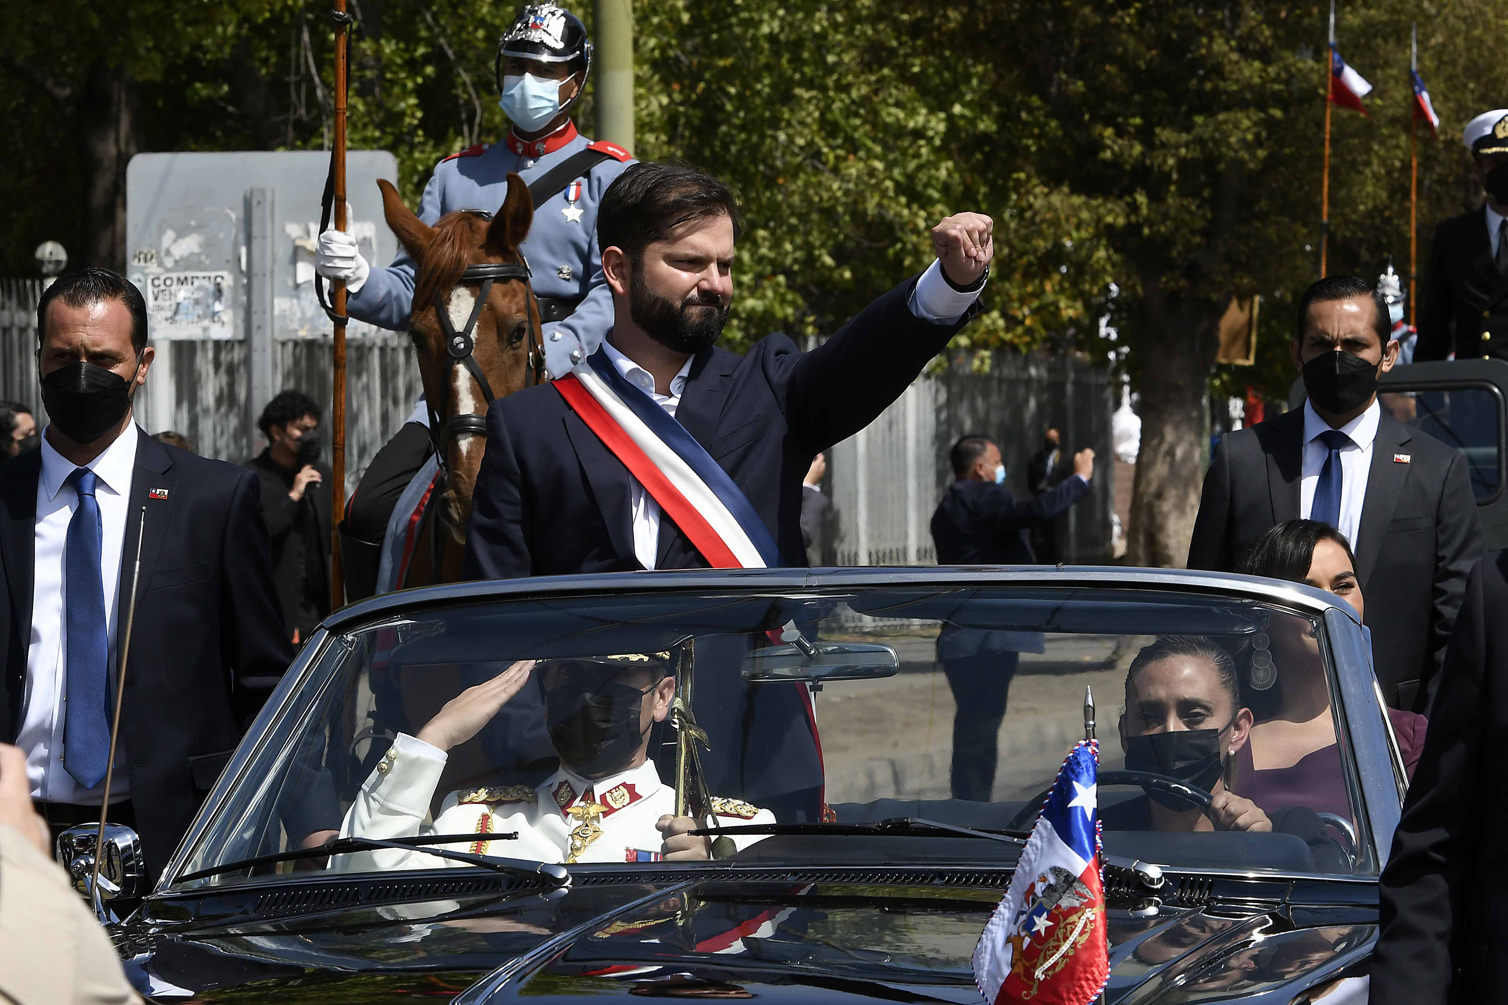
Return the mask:
<path id="1" fill-rule="evenodd" d="M 997 883 L 1004 878 L 685 880 L 280 913 L 261 895 L 262 910 L 139 922 L 124 942 L 137 952 L 133 979 L 160 1000 L 421 996 L 469 1005 L 633 994 L 977 1005 L 970 957 L 1003 892 Z M 1111 901 L 1107 1002 L 1271 993 L 1286 1003 L 1344 978 L 1375 940 L 1375 887 L 1371 903 L 1363 895 L 1306 906 L 1289 884 L 1229 886 L 1237 895 L 1190 906 Z"/>

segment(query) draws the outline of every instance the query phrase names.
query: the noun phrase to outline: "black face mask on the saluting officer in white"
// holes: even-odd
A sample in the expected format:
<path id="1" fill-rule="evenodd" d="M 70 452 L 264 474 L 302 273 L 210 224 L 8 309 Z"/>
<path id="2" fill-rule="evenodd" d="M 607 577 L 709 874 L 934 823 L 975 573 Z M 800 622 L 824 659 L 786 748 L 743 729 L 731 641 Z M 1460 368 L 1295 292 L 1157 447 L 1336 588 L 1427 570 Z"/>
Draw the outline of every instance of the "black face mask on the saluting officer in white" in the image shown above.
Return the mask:
<path id="1" fill-rule="evenodd" d="M 596 692 L 582 692 L 579 684 L 558 684 L 544 692 L 544 722 L 555 753 L 584 777 L 621 770 L 644 740 L 639 708 L 651 690 L 653 684 L 644 690 L 603 684 Z"/>

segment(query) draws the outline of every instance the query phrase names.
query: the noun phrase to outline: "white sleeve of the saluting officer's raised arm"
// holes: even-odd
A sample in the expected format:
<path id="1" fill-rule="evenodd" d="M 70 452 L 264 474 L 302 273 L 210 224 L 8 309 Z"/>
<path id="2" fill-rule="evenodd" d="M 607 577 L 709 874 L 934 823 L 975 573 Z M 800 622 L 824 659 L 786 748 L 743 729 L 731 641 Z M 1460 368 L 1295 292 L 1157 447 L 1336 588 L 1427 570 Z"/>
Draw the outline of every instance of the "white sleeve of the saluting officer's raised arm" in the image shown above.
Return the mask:
<path id="1" fill-rule="evenodd" d="M 428 743 L 400 732 L 371 776 L 362 782 L 356 802 L 341 821 L 342 838 L 415 838 L 437 833 L 425 827 L 430 800 L 445 771 L 446 753 Z M 379 848 L 338 854 L 330 859 L 333 872 L 372 872 L 385 869 L 422 869 L 451 865 L 422 851 Z"/>

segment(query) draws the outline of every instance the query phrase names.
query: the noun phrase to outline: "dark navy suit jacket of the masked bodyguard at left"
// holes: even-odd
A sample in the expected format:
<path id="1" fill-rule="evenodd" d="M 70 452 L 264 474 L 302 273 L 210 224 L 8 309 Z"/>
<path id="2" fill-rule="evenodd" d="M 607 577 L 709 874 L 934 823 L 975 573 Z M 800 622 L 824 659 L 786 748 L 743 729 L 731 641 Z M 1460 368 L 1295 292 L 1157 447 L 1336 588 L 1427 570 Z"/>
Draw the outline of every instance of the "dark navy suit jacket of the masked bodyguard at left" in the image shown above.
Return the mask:
<path id="1" fill-rule="evenodd" d="M 15 743 L 24 711 L 41 470 L 41 451 L 0 467 L 0 740 L 6 743 Z M 166 490 L 166 497 L 149 497 L 154 488 Z M 139 431 L 121 548 L 121 625 L 142 506 L 146 532 L 121 743 L 154 880 L 293 658 L 258 490 L 255 472 Z"/>

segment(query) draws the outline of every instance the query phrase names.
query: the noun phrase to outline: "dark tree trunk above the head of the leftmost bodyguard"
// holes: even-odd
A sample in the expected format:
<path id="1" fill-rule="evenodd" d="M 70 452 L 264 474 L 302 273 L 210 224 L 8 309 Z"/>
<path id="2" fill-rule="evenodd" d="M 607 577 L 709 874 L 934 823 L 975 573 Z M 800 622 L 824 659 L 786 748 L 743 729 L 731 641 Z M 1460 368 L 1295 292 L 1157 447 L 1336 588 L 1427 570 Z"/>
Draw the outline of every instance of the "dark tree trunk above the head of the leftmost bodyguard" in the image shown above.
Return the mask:
<path id="1" fill-rule="evenodd" d="M 125 166 L 136 154 L 131 80 L 124 65 L 97 62 L 77 101 L 84 178 L 83 265 L 125 271 Z"/>

